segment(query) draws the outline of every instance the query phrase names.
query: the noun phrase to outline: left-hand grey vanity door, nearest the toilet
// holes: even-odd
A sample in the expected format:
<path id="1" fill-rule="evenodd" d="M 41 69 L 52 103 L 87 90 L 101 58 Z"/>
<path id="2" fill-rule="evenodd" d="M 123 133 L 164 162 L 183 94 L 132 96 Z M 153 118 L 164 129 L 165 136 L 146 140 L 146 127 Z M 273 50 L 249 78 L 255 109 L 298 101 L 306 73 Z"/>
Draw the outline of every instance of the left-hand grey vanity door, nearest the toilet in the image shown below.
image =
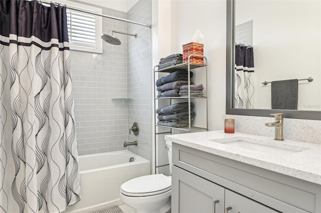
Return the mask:
<path id="1" fill-rule="evenodd" d="M 223 213 L 224 188 L 173 165 L 172 212 Z"/>

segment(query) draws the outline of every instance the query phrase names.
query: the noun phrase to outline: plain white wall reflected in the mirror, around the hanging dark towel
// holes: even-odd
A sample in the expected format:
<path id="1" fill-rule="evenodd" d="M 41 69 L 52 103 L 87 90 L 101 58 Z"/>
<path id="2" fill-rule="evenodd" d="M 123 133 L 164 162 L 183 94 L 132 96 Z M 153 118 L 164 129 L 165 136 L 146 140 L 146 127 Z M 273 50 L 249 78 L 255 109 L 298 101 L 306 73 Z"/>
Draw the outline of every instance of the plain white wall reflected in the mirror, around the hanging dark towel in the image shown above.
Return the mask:
<path id="1" fill-rule="evenodd" d="M 312 77 L 298 82 L 297 108 L 321 110 L 312 95 L 321 92 L 320 10 L 320 1 L 236 2 L 236 25 L 253 20 L 254 108 L 271 109 L 271 84 L 262 82 Z"/>

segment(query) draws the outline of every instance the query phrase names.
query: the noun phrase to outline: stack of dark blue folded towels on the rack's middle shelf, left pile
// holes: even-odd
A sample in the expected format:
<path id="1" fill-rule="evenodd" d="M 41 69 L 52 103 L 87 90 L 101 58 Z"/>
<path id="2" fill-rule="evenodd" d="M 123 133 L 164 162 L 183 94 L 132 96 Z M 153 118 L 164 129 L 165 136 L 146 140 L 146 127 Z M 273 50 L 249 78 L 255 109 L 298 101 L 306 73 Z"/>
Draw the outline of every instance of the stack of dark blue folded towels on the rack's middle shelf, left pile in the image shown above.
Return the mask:
<path id="1" fill-rule="evenodd" d="M 190 78 L 193 77 L 193 72 L 190 71 Z M 188 85 L 188 72 L 186 70 L 178 70 L 170 75 L 159 78 L 156 81 L 156 90 L 160 91 L 159 97 L 176 97 L 180 96 L 180 88 Z"/>

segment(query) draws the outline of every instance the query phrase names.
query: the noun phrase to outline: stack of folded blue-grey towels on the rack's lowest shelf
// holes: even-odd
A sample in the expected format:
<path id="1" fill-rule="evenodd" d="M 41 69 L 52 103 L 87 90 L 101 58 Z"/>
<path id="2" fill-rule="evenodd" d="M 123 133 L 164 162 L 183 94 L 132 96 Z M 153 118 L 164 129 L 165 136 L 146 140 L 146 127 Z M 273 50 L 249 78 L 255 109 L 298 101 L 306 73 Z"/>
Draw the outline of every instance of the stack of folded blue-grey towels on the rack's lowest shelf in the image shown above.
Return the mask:
<path id="1" fill-rule="evenodd" d="M 194 111 L 193 103 L 191 103 L 191 125 L 193 124 Z M 170 106 L 156 109 L 158 125 L 169 127 L 188 127 L 189 126 L 189 103 L 177 103 Z"/>

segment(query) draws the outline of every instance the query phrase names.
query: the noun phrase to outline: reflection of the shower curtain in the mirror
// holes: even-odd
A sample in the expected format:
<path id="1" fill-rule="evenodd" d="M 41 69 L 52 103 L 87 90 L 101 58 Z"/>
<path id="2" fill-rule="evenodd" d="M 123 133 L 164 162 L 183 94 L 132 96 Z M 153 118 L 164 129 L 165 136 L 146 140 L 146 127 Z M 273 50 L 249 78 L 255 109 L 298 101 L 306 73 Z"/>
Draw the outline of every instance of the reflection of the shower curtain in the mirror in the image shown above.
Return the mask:
<path id="1" fill-rule="evenodd" d="M 253 109 L 253 48 L 235 46 L 234 108 Z"/>

